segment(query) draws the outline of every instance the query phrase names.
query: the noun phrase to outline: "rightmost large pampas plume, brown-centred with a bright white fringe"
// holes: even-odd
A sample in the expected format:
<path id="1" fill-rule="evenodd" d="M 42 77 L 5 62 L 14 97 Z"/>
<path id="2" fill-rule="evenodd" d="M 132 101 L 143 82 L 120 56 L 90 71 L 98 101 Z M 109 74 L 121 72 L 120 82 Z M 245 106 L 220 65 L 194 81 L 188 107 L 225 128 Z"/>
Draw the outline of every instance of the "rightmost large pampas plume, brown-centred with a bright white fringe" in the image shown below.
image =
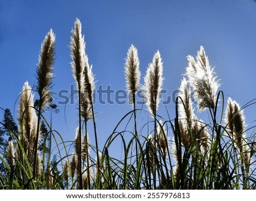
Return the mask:
<path id="1" fill-rule="evenodd" d="M 230 97 L 225 111 L 225 123 L 229 129 L 229 135 L 234 139 L 240 153 L 243 154 L 242 162 L 245 162 L 248 172 L 250 168 L 250 149 L 245 134 L 245 116 L 240 105 Z"/>

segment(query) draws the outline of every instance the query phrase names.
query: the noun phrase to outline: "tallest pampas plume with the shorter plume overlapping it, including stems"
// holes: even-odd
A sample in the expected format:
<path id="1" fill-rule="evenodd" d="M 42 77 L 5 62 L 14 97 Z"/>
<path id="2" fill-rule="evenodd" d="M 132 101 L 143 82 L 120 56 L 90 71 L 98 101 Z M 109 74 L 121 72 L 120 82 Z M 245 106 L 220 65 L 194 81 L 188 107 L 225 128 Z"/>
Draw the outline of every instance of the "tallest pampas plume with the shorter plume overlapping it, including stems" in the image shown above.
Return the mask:
<path id="1" fill-rule="evenodd" d="M 96 149 L 98 150 L 98 140 L 96 132 L 96 122 L 94 119 L 93 108 L 93 92 L 95 87 L 94 75 L 92 72 L 92 66 L 89 66 L 88 57 L 85 54 L 85 41 L 84 36 L 81 33 L 81 22 L 76 19 L 75 28 L 72 29 L 72 37 L 69 48 L 71 49 L 71 66 L 73 71 L 73 77 L 76 80 L 77 92 L 79 96 L 79 130 L 77 143 L 79 146 L 78 155 L 78 173 L 79 173 L 79 189 L 82 189 L 82 127 L 81 117 L 85 122 L 85 135 L 87 135 L 87 121 L 93 119 L 94 136 Z M 88 147 L 87 147 L 88 148 Z M 88 150 L 86 151 L 88 153 Z M 97 153 L 97 165 L 100 165 L 98 151 Z M 89 162 L 88 162 L 89 164 Z"/>

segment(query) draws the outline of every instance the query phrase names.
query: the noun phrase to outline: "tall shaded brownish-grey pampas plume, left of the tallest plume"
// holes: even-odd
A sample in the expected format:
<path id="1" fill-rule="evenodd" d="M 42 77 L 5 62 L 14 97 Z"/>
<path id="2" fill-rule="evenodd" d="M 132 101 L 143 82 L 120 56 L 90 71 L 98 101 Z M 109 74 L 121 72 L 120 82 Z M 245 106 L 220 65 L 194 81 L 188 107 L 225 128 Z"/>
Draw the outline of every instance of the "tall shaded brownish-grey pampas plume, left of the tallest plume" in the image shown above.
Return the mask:
<path id="1" fill-rule="evenodd" d="M 44 108 L 52 97 L 50 88 L 53 76 L 53 62 L 55 57 L 55 35 L 52 29 L 47 33 L 41 46 L 36 78 L 38 80 L 37 91 L 41 97 L 40 105 Z"/>

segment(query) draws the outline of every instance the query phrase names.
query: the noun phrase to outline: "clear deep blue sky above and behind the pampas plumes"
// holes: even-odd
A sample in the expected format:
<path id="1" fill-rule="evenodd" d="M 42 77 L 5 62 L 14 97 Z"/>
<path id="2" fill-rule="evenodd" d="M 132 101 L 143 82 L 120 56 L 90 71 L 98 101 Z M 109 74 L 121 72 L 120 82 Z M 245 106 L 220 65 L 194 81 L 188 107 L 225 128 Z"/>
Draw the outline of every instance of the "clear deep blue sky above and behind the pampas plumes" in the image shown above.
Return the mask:
<path id="1" fill-rule="evenodd" d="M 97 87 L 125 89 L 124 63 L 131 44 L 138 48 L 140 69 L 159 50 L 164 66 L 164 86 L 171 95 L 180 86 L 187 55 L 203 45 L 215 66 L 225 102 L 232 97 L 241 105 L 255 98 L 256 2 L 253 0 L 198 1 L 9 1 L 0 2 L 0 106 L 16 117 L 18 95 L 26 80 L 36 83 L 41 43 L 49 29 L 56 33 L 55 102 L 61 89 L 69 90 L 72 77 L 69 41 L 76 18 L 82 23 L 86 54 L 93 65 Z M 143 78 L 142 78 L 143 81 Z M 142 82 L 143 84 L 143 82 Z M 73 140 L 77 105 L 58 105 L 53 127 L 65 140 Z M 174 104 L 167 105 L 171 118 Z M 96 100 L 97 130 L 102 148 L 105 139 L 130 105 Z M 159 114 L 167 117 L 164 106 Z M 255 120 L 255 106 L 245 110 L 246 123 Z M 67 124 L 65 123 L 65 117 Z M 1 117 L 2 118 L 2 117 Z M 249 135 L 251 134 L 251 131 Z M 93 134 L 91 134 L 93 135 Z M 248 134 L 247 134 L 248 135 Z M 93 142 L 93 136 L 91 136 Z"/>

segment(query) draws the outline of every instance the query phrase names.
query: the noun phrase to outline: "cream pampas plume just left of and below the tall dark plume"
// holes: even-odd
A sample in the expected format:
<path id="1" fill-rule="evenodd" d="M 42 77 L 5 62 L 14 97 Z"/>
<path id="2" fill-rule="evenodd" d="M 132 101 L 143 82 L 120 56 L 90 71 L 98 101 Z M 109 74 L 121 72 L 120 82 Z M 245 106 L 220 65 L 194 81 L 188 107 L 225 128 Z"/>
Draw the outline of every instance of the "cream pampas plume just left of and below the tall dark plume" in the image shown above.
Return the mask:
<path id="1" fill-rule="evenodd" d="M 25 82 L 20 93 L 19 109 L 18 109 L 18 121 L 19 121 L 19 139 L 24 137 L 24 151 L 27 152 L 30 149 L 32 152 L 36 141 L 36 129 L 38 125 L 38 117 L 34 107 L 34 95 L 28 82 Z M 40 134 L 40 133 L 39 133 Z M 40 139 L 40 136 L 39 136 Z M 39 142 L 37 142 L 39 143 Z"/>

